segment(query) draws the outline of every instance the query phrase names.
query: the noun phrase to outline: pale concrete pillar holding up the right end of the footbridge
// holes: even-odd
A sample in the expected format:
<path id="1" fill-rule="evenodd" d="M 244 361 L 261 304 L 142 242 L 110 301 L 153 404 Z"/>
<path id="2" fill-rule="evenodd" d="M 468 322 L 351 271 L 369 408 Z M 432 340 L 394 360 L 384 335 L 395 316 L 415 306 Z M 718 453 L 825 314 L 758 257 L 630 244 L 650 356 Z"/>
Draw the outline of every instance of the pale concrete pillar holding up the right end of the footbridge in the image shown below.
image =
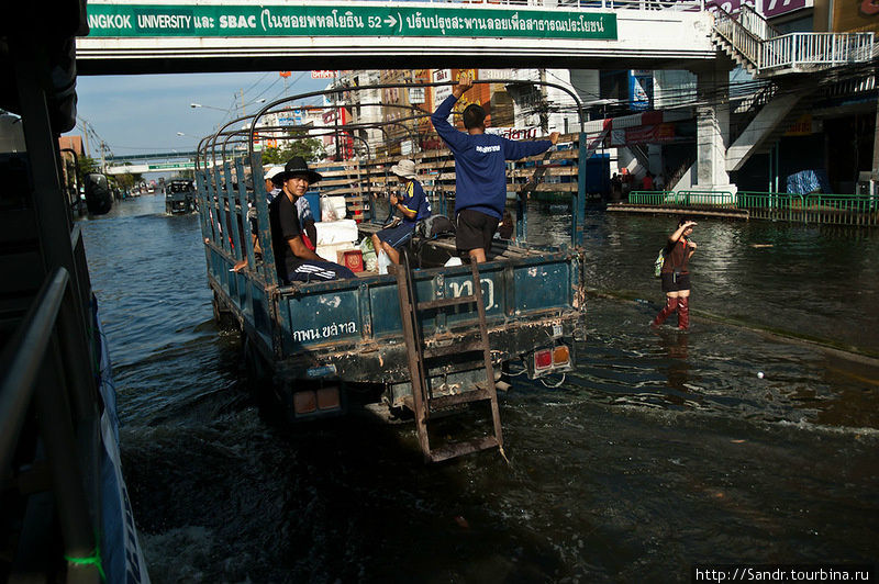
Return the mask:
<path id="1" fill-rule="evenodd" d="M 732 191 L 726 172 L 730 146 L 730 69 L 723 61 L 694 71 L 697 78 L 696 168 L 700 191 Z"/>

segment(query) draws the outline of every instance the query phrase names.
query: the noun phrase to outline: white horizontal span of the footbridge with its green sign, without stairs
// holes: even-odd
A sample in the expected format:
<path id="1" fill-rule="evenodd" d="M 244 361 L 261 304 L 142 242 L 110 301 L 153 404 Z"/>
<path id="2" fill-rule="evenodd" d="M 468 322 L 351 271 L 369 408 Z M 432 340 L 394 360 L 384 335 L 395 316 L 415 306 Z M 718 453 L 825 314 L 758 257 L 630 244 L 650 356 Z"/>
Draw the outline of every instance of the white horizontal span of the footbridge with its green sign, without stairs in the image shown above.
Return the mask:
<path id="1" fill-rule="evenodd" d="M 355 68 L 691 68 L 714 60 L 704 0 L 91 0 L 80 75 Z"/>

